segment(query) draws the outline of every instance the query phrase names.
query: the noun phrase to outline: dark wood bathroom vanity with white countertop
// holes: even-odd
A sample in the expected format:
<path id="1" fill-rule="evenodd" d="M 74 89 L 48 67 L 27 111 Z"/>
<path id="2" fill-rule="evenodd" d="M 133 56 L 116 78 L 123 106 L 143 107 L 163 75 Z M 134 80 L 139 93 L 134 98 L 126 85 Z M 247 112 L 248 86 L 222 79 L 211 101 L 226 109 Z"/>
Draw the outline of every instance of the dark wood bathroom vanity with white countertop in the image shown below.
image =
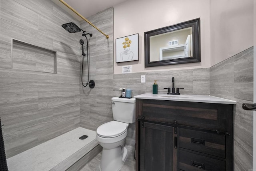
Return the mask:
<path id="1" fill-rule="evenodd" d="M 136 98 L 136 171 L 233 170 L 236 101 L 145 93 Z"/>

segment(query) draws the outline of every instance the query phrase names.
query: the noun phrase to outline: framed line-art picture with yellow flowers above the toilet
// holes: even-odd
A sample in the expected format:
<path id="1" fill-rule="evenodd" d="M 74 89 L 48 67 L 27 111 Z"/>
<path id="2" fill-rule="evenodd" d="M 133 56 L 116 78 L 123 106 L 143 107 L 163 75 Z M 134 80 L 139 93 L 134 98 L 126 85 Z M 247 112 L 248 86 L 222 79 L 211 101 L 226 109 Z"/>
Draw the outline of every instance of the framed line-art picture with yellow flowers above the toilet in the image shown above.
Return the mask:
<path id="1" fill-rule="evenodd" d="M 116 39 L 116 63 L 139 60 L 139 34 Z"/>

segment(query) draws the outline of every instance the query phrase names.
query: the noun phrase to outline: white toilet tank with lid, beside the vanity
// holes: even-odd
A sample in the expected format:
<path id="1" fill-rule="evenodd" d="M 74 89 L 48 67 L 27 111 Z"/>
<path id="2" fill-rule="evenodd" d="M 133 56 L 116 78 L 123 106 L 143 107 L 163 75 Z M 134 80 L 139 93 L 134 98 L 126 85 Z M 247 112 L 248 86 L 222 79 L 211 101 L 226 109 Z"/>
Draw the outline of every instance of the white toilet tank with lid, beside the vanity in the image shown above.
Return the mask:
<path id="1" fill-rule="evenodd" d="M 112 112 L 115 121 L 135 122 L 135 98 L 112 97 Z"/>

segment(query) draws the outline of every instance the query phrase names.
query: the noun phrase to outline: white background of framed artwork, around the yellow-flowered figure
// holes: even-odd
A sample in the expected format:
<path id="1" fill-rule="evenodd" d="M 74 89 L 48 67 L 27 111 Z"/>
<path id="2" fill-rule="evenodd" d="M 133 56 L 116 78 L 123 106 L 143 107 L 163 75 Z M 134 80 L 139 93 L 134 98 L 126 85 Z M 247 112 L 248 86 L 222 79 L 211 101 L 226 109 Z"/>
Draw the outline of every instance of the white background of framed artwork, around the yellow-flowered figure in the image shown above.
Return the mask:
<path id="1" fill-rule="evenodd" d="M 133 53 L 132 58 L 122 58 L 122 54 L 127 55 L 124 53 L 124 44 L 122 44 L 125 41 L 125 38 L 129 38 L 129 40 L 132 41 L 130 44 L 130 50 Z M 122 53 L 123 52 L 123 53 Z M 122 54 L 121 54 L 122 53 Z M 137 61 L 139 60 L 139 34 L 132 34 L 130 36 L 124 36 L 122 38 L 117 38 L 116 39 L 116 63 L 120 62 L 129 62 L 129 61 Z"/>

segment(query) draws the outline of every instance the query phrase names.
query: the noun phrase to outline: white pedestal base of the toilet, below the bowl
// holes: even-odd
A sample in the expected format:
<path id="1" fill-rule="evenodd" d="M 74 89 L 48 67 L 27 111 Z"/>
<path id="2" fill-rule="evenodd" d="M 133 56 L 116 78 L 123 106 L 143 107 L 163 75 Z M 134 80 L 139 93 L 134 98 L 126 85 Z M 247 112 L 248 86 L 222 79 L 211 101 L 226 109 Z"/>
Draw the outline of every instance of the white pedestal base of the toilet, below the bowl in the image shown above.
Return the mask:
<path id="1" fill-rule="evenodd" d="M 121 155 L 120 155 L 121 154 Z M 102 157 L 100 161 L 101 171 L 119 171 L 124 165 L 124 161 L 127 158 L 128 151 L 126 147 L 121 149 L 118 146 L 113 149 L 102 149 Z"/>

